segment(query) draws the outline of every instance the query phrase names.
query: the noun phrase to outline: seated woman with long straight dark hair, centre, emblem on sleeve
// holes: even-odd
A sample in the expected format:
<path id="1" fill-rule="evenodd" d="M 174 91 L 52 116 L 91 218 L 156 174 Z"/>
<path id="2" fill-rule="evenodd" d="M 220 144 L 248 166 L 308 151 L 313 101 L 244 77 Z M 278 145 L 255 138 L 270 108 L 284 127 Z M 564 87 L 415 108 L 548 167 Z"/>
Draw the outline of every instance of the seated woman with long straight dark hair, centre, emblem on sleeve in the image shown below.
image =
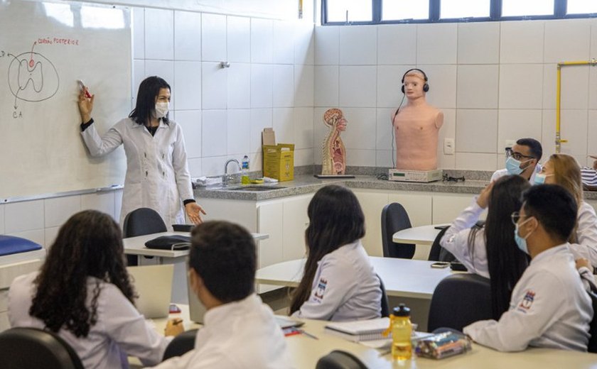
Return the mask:
<path id="1" fill-rule="evenodd" d="M 290 312 L 297 318 L 348 321 L 381 316 L 382 290 L 360 238 L 365 216 L 355 194 L 330 185 L 309 203 L 307 261 Z"/>

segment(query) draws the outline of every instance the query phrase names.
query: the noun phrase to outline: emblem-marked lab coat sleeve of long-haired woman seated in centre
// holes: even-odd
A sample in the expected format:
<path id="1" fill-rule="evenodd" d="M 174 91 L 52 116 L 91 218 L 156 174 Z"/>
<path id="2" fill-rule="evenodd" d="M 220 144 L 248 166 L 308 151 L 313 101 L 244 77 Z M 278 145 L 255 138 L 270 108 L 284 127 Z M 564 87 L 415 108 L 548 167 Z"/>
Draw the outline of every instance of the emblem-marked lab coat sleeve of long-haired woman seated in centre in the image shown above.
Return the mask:
<path id="1" fill-rule="evenodd" d="M 355 292 L 357 281 L 353 265 L 345 260 L 321 260 L 321 272 L 316 272 L 314 287 L 301 309 L 292 316 L 301 319 L 330 320 L 341 304 Z"/>

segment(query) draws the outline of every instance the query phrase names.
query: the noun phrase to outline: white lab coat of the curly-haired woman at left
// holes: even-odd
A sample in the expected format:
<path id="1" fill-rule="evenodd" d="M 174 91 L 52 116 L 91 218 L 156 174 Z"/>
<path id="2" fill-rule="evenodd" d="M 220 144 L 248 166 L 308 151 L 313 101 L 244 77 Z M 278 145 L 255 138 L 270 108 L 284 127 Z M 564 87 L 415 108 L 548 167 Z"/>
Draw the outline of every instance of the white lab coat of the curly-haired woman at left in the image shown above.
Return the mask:
<path id="1" fill-rule="evenodd" d="M 43 321 L 29 315 L 36 292 L 33 280 L 37 275 L 38 272 L 21 275 L 11 284 L 9 321 L 13 327 L 43 329 L 45 326 Z M 96 281 L 95 277 L 87 278 L 87 306 L 91 304 Z M 86 369 L 128 368 L 127 355 L 139 358 L 144 365 L 159 363 L 171 338 L 159 335 L 116 286 L 106 282 L 100 282 L 100 286 L 97 322 L 90 327 L 87 337 L 77 338 L 65 329 L 58 331 L 58 335 L 75 350 Z"/>

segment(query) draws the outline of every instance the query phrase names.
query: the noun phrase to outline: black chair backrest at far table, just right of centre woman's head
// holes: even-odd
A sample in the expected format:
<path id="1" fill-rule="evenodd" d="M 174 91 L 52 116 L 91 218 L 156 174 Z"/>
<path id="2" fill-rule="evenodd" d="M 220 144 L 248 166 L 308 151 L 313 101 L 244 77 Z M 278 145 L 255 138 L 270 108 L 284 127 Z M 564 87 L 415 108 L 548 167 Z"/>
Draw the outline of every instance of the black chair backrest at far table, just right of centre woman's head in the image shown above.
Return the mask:
<path id="1" fill-rule="evenodd" d="M 412 259 L 414 255 L 414 244 L 398 244 L 392 241 L 392 236 L 397 231 L 411 228 L 409 214 L 401 204 L 392 202 L 382 209 L 382 245 L 384 258 Z"/>

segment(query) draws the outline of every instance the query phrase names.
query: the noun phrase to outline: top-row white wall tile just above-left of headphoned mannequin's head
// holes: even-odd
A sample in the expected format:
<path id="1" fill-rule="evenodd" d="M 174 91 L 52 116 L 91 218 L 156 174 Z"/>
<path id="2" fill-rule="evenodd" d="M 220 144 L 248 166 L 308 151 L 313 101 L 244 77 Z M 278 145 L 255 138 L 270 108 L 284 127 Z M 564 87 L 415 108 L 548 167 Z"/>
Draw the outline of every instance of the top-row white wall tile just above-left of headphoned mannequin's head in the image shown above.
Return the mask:
<path id="1" fill-rule="evenodd" d="M 416 24 L 377 27 L 377 64 L 416 64 Z"/>

